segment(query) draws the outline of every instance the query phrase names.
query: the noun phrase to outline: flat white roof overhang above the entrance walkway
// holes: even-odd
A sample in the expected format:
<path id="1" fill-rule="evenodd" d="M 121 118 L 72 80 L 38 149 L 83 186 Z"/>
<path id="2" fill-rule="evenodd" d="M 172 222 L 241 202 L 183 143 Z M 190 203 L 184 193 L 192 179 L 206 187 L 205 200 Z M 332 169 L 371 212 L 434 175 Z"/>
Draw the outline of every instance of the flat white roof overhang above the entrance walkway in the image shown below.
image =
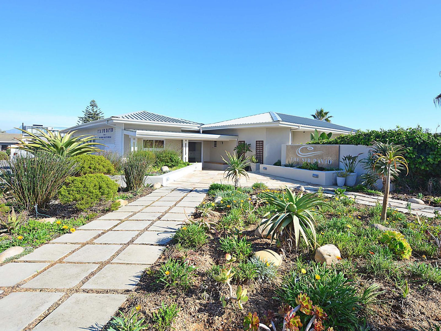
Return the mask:
<path id="1" fill-rule="evenodd" d="M 124 134 L 130 135 L 131 137 L 147 139 L 236 140 L 238 138 L 237 135 L 150 130 L 124 130 Z"/>

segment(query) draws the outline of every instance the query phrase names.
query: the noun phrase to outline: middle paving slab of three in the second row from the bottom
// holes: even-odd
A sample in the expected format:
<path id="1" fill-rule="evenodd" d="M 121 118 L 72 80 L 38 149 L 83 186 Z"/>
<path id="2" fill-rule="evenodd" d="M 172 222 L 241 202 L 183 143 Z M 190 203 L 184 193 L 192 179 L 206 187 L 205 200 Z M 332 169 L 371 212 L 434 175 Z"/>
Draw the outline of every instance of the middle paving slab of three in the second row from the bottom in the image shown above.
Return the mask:
<path id="1" fill-rule="evenodd" d="M 32 289 L 70 288 L 81 282 L 84 277 L 99 266 L 99 264 L 56 264 L 21 287 Z"/>

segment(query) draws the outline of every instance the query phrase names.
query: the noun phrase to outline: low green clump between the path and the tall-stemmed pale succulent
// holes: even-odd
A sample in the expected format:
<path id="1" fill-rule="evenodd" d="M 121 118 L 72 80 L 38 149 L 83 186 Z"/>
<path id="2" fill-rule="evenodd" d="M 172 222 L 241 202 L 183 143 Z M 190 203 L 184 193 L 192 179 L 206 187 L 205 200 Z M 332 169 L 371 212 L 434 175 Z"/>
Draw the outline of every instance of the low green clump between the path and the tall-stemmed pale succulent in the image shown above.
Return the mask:
<path id="1" fill-rule="evenodd" d="M 194 283 L 194 267 L 183 261 L 169 259 L 155 274 L 157 282 L 164 287 L 186 292 Z"/>

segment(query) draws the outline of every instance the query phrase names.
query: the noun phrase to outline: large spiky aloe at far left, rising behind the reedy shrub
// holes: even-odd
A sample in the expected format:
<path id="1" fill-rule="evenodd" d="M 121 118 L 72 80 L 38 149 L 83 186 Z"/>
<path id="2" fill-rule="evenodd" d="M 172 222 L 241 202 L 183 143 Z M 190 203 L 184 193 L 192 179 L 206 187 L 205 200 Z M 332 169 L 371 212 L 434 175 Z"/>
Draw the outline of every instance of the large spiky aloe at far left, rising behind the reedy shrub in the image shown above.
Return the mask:
<path id="1" fill-rule="evenodd" d="M 20 150 L 26 150 L 30 153 L 37 150 L 43 150 L 61 156 L 76 156 L 101 152 L 101 150 L 98 147 L 95 147 L 95 145 L 106 146 L 101 143 L 96 143 L 96 136 L 94 135 L 78 135 L 72 137 L 76 131 L 71 131 L 62 137 L 60 132 L 54 134 L 49 130 L 46 133 L 42 130 L 36 129 L 40 132 L 40 135 L 34 135 L 33 133 L 20 128 L 19 130 L 32 138 L 17 139 L 19 141 L 19 143 L 17 143 L 17 148 Z"/>

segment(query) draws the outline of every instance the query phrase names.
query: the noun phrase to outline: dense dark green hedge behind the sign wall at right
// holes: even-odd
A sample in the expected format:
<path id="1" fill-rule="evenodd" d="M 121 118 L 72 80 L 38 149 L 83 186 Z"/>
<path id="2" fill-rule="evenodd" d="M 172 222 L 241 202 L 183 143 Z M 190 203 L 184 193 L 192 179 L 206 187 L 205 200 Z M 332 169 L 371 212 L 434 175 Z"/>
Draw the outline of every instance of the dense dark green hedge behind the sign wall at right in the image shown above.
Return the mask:
<path id="1" fill-rule="evenodd" d="M 400 181 L 411 188 L 426 188 L 430 178 L 441 177 L 441 133 L 430 133 L 420 126 L 416 128 L 396 127 L 391 130 L 359 131 L 352 135 L 339 135 L 326 141 L 314 142 L 322 145 L 367 145 L 372 141 L 400 144 L 407 148 L 405 155 L 409 164 L 409 175 Z"/>

